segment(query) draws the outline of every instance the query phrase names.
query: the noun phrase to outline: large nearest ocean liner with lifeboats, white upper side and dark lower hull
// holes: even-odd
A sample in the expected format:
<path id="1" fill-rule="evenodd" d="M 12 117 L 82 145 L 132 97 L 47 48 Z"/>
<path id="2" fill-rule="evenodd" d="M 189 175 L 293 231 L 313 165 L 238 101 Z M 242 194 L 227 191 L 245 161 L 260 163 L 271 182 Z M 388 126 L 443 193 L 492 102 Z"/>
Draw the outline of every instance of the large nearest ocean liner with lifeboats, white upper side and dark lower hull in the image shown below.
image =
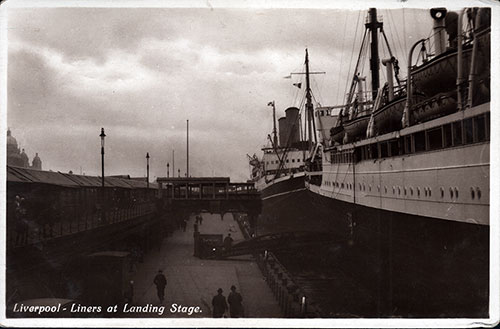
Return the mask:
<path id="1" fill-rule="evenodd" d="M 373 300 L 365 315 L 487 317 L 491 10 L 430 14 L 431 36 L 409 50 L 403 79 L 369 10 L 347 101 L 314 111 L 305 191 L 267 206 L 264 194 L 260 224 L 349 241 L 334 266 Z"/>

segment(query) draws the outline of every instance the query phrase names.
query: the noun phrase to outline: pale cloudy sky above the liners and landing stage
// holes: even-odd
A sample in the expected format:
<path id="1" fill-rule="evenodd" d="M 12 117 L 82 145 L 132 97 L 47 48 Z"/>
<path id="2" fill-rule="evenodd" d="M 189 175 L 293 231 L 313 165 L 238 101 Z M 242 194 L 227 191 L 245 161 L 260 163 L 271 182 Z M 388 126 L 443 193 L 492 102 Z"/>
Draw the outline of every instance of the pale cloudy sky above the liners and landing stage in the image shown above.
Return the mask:
<path id="1" fill-rule="evenodd" d="M 431 32 L 427 10 L 379 10 L 399 57 Z M 366 11 L 228 8 L 10 8 L 7 10 L 7 124 L 44 169 L 165 176 L 249 176 L 278 116 L 298 105 L 292 83 L 309 49 L 313 92 L 342 102 Z M 397 28 L 396 28 L 397 27 Z M 356 40 L 355 40 L 356 39 Z M 404 50 L 404 53 L 403 53 Z M 385 54 L 385 55 L 384 55 Z M 404 55 L 403 55 L 404 54 Z M 384 50 L 381 57 L 387 57 Z M 351 64 L 351 71 L 354 64 Z M 366 64 L 368 67 L 368 64 Z M 172 168 L 172 167 L 170 167 Z"/>

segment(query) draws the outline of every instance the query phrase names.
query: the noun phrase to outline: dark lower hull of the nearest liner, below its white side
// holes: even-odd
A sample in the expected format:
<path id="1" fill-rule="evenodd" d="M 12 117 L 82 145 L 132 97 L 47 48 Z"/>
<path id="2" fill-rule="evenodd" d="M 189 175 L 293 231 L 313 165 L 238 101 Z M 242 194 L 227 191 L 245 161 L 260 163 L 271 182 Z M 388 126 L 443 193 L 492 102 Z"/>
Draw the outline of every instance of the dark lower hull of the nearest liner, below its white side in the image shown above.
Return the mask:
<path id="1" fill-rule="evenodd" d="M 335 286 L 331 299 L 322 301 L 334 305 L 324 310 L 325 316 L 488 316 L 489 226 L 381 210 L 300 190 L 263 200 L 257 230 L 259 235 L 327 231 L 336 237 L 336 247 L 295 251 L 290 264 L 302 258 L 301 270 L 328 264 L 343 274 L 332 275 L 335 284 L 314 287 L 324 292 Z M 349 299 L 356 302 L 346 303 Z"/>

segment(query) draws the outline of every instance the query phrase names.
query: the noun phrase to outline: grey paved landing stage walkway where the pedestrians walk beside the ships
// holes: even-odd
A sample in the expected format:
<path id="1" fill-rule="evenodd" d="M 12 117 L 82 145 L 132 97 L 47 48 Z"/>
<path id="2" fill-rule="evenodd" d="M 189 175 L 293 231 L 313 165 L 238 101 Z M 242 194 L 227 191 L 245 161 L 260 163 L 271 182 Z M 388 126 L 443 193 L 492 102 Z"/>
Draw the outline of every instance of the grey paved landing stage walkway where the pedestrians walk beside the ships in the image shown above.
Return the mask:
<path id="1" fill-rule="evenodd" d="M 151 250 L 144 256 L 144 262 L 138 264 L 134 275 L 134 304 L 160 305 L 153 279 L 162 269 L 168 284 L 163 303 L 166 309 L 161 317 L 212 317 L 212 297 L 217 294 L 218 288 L 222 288 L 227 298 L 231 285 L 235 285 L 243 296 L 245 317 L 281 317 L 280 307 L 251 256 L 230 260 L 207 260 L 193 256 L 194 216 L 189 219 L 186 232 L 175 231 L 163 240 L 160 250 Z M 231 233 L 235 242 L 243 239 L 232 214 L 226 213 L 223 220 L 219 214 L 203 213 L 202 216 L 201 234 L 223 234 L 225 237 Z M 170 308 L 174 303 L 200 306 L 202 312 L 191 316 L 173 314 Z M 159 317 L 157 314 L 148 316 Z"/>

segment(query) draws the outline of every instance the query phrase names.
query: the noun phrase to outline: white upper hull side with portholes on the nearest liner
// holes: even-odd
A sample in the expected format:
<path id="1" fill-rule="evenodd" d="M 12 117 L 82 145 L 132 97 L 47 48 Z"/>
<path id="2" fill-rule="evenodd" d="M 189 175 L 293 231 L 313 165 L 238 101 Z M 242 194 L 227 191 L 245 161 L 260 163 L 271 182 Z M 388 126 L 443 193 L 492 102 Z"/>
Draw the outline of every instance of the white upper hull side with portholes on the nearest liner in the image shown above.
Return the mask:
<path id="1" fill-rule="evenodd" d="M 343 145 L 338 151 L 353 152 L 397 135 L 438 128 L 489 112 L 484 104 L 465 112 L 406 128 L 359 143 Z M 489 146 L 475 142 L 434 151 L 409 153 L 378 159 L 332 163 L 323 154 L 321 186 L 309 190 L 324 197 L 387 211 L 489 225 Z"/>

